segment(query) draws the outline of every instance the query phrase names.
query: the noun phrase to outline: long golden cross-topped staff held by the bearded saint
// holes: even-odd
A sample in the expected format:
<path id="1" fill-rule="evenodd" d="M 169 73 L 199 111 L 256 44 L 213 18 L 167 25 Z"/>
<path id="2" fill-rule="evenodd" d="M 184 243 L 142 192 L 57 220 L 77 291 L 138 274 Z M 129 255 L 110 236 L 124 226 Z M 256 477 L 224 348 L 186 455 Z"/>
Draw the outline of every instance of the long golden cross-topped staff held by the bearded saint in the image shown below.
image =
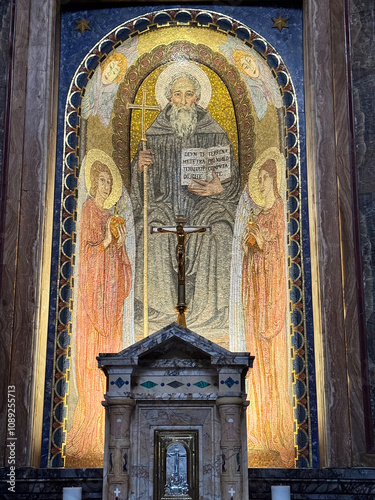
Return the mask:
<path id="1" fill-rule="evenodd" d="M 141 129 L 142 129 L 142 150 L 146 150 L 146 129 L 145 117 L 146 111 L 160 111 L 159 106 L 147 105 L 147 90 L 143 89 L 141 104 L 127 104 L 128 109 L 138 109 L 142 111 Z M 148 174 L 147 168 L 143 169 L 143 336 L 148 336 Z"/>

